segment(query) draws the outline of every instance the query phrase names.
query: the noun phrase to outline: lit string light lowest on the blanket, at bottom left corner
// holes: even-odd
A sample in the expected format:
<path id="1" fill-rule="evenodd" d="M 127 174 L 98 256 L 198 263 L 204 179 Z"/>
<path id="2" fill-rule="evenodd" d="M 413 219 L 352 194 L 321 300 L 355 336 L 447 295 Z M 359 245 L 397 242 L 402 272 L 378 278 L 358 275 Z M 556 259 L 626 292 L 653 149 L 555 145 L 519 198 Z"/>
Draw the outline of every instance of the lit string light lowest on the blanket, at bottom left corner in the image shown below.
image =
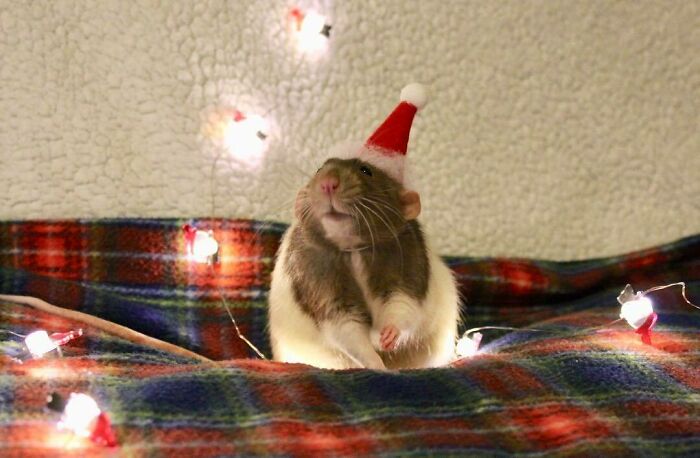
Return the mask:
<path id="1" fill-rule="evenodd" d="M 112 424 L 97 402 L 84 393 L 71 393 L 65 400 L 58 393 L 47 398 L 47 407 L 61 412 L 59 430 L 67 430 L 78 437 L 89 437 L 96 444 L 114 447 L 117 445 Z"/>

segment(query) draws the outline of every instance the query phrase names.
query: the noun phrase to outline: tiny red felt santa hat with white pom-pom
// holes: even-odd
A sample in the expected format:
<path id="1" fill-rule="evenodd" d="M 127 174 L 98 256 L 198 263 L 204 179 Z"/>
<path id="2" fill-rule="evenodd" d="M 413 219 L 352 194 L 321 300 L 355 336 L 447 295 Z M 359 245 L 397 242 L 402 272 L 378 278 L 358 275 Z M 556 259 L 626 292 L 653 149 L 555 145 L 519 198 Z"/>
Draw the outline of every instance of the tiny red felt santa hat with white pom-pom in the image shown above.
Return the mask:
<path id="1" fill-rule="evenodd" d="M 359 159 L 403 182 L 408 137 L 413 118 L 426 102 L 425 88 L 412 83 L 401 91 L 401 101 L 365 142 Z"/>

